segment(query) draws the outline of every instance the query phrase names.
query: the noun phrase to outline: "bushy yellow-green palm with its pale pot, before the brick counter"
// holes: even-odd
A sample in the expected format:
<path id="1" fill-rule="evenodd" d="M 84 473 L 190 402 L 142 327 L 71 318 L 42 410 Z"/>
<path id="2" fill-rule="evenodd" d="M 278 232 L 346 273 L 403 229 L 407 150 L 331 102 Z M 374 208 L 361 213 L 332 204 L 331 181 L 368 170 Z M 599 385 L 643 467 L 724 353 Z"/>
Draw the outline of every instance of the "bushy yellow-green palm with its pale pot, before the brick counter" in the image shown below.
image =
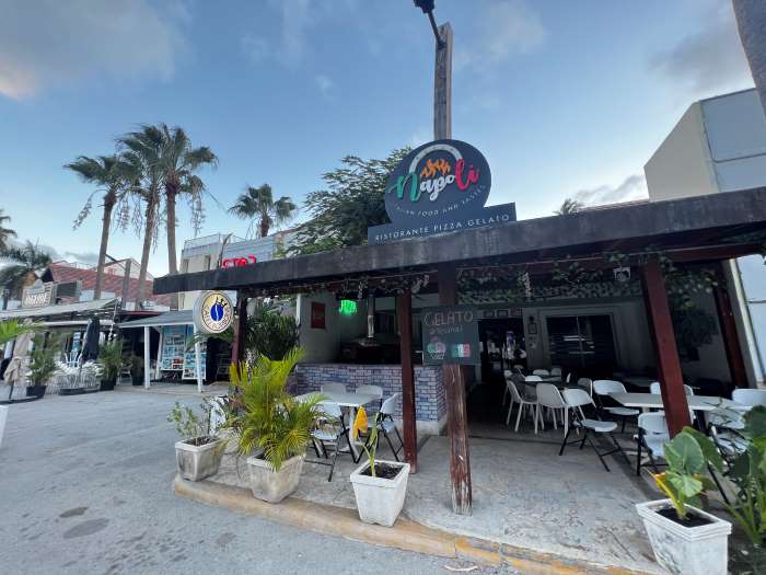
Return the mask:
<path id="1" fill-rule="evenodd" d="M 321 395 L 298 401 L 287 391 L 301 355 L 294 348 L 281 360 L 260 355 L 231 368 L 241 407 L 227 427 L 234 432 L 239 453 L 247 457 L 253 495 L 269 503 L 279 503 L 298 487 L 311 432 L 322 415 Z"/>

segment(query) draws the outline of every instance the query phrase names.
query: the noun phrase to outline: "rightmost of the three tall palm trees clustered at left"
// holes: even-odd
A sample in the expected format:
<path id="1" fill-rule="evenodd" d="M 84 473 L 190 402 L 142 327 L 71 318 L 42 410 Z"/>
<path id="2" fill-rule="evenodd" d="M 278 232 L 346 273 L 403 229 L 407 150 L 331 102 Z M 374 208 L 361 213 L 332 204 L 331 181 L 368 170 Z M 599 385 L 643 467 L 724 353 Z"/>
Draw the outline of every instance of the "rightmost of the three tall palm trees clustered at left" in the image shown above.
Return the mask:
<path id="1" fill-rule="evenodd" d="M 204 208 L 202 193 L 205 184 L 195 175 L 204 165 L 218 165 L 218 158 L 207 146 L 192 147 L 192 140 L 183 130 L 175 127 L 170 129 L 166 124 L 160 124 L 156 129 L 162 136 L 160 163 L 165 192 L 165 218 L 167 221 L 167 269 L 171 274 L 178 273 L 175 250 L 175 204 L 178 195 L 187 196 L 192 207 L 192 223 L 195 233 L 201 227 Z"/>

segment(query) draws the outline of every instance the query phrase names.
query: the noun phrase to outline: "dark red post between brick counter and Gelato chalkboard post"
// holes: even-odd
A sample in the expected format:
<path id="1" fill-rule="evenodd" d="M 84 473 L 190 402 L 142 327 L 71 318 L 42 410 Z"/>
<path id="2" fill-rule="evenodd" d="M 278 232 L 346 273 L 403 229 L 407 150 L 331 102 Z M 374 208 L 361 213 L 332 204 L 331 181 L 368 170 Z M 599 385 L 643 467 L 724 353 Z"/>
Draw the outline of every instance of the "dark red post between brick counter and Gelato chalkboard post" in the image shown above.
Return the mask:
<path id="1" fill-rule="evenodd" d="M 415 368 L 413 367 L 413 294 L 409 289 L 396 296 L 396 317 L 399 324 L 402 357 L 404 459 L 409 463 L 410 473 L 417 473 L 418 432 L 415 411 Z"/>

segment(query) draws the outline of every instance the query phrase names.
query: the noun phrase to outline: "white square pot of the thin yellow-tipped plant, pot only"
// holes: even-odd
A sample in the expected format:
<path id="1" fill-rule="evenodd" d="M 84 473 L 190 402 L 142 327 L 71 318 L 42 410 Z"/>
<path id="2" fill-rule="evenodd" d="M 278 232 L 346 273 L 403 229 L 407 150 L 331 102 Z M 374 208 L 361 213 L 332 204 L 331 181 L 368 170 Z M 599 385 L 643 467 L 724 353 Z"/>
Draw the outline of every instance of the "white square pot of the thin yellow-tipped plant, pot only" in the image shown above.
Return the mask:
<path id="1" fill-rule="evenodd" d="M 351 473 L 353 495 L 357 498 L 359 518 L 365 524 L 378 524 L 391 527 L 404 507 L 404 498 L 407 494 L 407 478 L 409 478 L 409 463 L 396 461 L 376 461 L 402 468 L 394 479 L 373 478 L 362 475 L 369 463 L 364 462 Z"/>

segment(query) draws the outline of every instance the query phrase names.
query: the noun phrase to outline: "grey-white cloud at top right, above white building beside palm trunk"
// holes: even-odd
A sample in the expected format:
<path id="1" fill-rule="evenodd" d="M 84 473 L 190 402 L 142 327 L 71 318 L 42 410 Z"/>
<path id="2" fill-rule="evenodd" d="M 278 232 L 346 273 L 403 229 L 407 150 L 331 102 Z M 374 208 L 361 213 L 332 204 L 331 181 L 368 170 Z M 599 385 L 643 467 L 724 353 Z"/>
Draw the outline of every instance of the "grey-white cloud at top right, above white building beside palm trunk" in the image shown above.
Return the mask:
<path id="1" fill-rule="evenodd" d="M 731 2 L 706 10 L 697 32 L 654 54 L 649 67 L 695 100 L 753 85 Z"/>

